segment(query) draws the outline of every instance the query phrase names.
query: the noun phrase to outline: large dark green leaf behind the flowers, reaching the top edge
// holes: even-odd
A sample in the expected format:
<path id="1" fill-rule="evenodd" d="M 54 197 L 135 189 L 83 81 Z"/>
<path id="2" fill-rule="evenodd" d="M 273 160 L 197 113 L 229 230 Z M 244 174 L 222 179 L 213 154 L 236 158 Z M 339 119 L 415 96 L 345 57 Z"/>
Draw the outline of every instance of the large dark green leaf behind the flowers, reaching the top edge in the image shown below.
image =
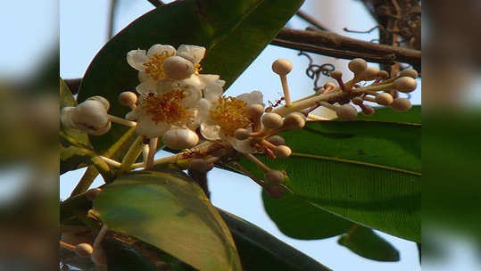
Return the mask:
<path id="1" fill-rule="evenodd" d="M 220 74 L 228 87 L 301 4 L 303 0 L 186 0 L 162 5 L 121 30 L 97 53 L 82 80 L 79 101 L 103 95 L 112 104 L 110 112 L 124 116 L 128 110 L 118 105 L 117 95 L 139 84 L 126 55 L 158 43 L 203 45 L 203 73 Z M 93 137 L 95 150 L 104 152 L 125 131 L 114 125 L 110 133 Z"/>

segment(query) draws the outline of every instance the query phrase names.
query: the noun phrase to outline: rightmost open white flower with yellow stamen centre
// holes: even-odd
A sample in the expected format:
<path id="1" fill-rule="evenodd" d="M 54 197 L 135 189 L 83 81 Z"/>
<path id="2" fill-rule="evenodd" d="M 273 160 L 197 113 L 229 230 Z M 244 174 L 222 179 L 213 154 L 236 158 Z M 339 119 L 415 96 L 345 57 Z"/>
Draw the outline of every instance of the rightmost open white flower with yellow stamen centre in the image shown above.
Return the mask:
<path id="1" fill-rule="evenodd" d="M 226 140 L 238 152 L 257 152 L 249 139 L 238 140 L 234 137 L 238 128 L 253 129 L 253 119 L 247 111 L 250 104 L 262 104 L 261 92 L 224 97 L 222 87 L 212 82 L 206 86 L 204 98 L 197 103 L 196 122 L 201 123 L 201 134 L 211 141 Z"/>

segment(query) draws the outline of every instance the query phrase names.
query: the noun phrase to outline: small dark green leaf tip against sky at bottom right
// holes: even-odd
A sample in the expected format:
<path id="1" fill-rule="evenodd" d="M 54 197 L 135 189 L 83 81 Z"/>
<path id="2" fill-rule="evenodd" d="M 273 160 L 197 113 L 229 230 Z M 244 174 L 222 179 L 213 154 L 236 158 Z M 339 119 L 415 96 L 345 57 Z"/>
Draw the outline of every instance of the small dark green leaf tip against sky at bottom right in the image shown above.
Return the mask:
<path id="1" fill-rule="evenodd" d="M 341 236 L 337 243 L 367 259 L 399 260 L 398 250 L 373 230 L 364 226 L 354 226 L 348 234 Z"/>

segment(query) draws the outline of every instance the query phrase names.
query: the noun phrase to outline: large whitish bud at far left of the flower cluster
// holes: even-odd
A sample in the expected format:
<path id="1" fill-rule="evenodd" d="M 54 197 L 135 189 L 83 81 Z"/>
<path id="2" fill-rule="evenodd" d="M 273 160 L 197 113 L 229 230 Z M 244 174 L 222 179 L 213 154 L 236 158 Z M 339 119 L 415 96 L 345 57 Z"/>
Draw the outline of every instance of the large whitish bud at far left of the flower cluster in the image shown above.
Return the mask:
<path id="1" fill-rule="evenodd" d="M 104 135 L 111 128 L 104 103 L 95 100 L 80 103 L 71 112 L 70 118 L 75 128 L 94 136 Z"/>

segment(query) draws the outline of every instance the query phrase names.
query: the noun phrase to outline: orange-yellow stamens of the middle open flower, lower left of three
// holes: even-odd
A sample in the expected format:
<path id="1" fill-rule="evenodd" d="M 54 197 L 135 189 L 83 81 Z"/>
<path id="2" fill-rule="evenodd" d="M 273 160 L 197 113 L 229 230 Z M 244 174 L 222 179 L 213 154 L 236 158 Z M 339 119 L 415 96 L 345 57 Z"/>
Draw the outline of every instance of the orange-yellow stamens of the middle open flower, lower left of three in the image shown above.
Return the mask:
<path id="1" fill-rule="evenodd" d="M 193 112 L 182 106 L 183 91 L 173 90 L 166 94 L 149 94 L 141 106 L 156 123 L 184 125 L 193 118 Z"/>

